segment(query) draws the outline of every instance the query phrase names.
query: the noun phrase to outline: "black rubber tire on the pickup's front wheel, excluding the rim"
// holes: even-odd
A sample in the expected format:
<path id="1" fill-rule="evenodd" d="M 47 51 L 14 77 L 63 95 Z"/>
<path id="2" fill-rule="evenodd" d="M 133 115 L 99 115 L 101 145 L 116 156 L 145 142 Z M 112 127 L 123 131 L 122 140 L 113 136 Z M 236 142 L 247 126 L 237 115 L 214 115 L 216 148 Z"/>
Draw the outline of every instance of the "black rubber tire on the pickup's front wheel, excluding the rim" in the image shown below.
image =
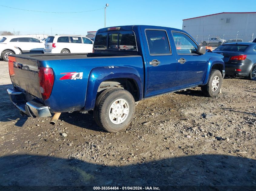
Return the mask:
<path id="1" fill-rule="evenodd" d="M 217 76 L 219 82 L 218 82 L 218 88 L 216 88 L 214 91 L 212 90 L 212 81 L 213 79 Z M 219 70 L 211 70 L 210 76 L 209 76 L 209 80 L 207 82 L 207 84 L 201 86 L 201 90 L 203 91 L 203 93 L 208 96 L 208 97 L 214 97 L 217 96 L 218 93 L 221 90 L 221 84 L 222 84 L 222 75 L 221 72 Z"/>

